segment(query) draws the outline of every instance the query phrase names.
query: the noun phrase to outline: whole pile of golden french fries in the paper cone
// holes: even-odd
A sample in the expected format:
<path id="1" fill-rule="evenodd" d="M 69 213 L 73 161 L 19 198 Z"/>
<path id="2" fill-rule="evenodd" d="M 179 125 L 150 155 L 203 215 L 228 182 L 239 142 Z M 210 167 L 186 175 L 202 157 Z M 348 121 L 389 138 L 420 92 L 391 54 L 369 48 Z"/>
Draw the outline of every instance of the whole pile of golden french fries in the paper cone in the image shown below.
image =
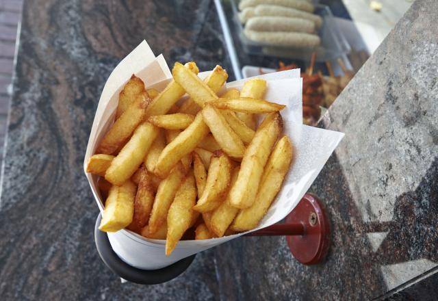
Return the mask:
<path id="1" fill-rule="evenodd" d="M 263 99 L 265 80 L 218 97 L 227 72 L 216 66 L 204 81 L 198 72 L 194 62 L 175 63 L 161 92 L 131 77 L 86 167 L 107 195 L 99 228 L 166 239 L 167 256 L 192 227 L 195 239 L 257 227 L 292 161 L 289 138 L 277 141 L 285 106 Z M 267 114 L 258 128 L 257 114 Z"/>

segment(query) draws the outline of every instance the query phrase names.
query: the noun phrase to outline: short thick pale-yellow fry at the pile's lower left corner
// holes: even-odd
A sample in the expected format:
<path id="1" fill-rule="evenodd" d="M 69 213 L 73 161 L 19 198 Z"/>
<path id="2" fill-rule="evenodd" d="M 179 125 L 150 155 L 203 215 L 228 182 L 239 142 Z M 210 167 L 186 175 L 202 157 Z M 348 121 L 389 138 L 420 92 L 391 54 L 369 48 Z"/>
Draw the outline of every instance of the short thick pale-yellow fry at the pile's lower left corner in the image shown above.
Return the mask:
<path id="1" fill-rule="evenodd" d="M 105 209 L 103 209 L 99 230 L 116 232 L 131 224 L 135 196 L 136 185 L 131 181 L 126 181 L 121 186 L 113 185 L 105 201 Z"/>

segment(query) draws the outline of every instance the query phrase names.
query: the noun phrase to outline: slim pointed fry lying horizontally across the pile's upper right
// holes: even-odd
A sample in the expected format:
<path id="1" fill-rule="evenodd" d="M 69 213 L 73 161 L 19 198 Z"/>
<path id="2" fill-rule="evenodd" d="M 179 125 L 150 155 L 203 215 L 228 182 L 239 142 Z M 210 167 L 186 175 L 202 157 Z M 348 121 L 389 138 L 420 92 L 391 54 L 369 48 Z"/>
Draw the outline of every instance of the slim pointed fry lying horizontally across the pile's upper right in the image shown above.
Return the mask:
<path id="1" fill-rule="evenodd" d="M 240 97 L 238 99 L 218 99 L 211 101 L 218 109 L 229 109 L 233 112 L 242 112 L 249 114 L 272 113 L 284 109 L 285 105 L 270 103 L 263 99 L 251 99 L 249 97 Z"/>

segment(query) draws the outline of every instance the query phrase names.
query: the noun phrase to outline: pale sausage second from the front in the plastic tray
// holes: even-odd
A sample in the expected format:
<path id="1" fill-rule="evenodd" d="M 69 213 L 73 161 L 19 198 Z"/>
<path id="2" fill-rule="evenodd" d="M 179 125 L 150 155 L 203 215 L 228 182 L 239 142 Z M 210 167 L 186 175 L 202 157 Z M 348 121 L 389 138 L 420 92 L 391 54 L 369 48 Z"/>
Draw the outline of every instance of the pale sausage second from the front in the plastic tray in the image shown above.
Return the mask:
<path id="1" fill-rule="evenodd" d="M 254 31 L 315 32 L 315 23 L 303 18 L 285 16 L 254 16 L 246 22 L 246 29 Z"/>

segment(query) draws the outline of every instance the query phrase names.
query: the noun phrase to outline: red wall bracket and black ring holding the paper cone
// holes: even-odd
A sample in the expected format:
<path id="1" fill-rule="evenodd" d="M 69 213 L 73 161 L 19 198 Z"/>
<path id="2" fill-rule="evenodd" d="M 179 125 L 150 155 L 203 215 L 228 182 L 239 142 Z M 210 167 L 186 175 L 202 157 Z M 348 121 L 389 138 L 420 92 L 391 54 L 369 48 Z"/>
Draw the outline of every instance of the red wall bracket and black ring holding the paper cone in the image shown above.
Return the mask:
<path id="1" fill-rule="evenodd" d="M 188 269 L 196 254 L 181 259 L 159 270 L 140 270 L 122 261 L 112 250 L 107 234 L 99 231 L 101 214 L 94 227 L 96 248 L 102 261 L 120 278 L 143 285 L 155 285 L 172 280 Z M 297 261 L 305 265 L 320 263 L 330 244 L 329 220 L 322 202 L 312 194 L 305 194 L 283 223 L 260 229 L 244 236 L 285 236 L 289 250 Z"/>

